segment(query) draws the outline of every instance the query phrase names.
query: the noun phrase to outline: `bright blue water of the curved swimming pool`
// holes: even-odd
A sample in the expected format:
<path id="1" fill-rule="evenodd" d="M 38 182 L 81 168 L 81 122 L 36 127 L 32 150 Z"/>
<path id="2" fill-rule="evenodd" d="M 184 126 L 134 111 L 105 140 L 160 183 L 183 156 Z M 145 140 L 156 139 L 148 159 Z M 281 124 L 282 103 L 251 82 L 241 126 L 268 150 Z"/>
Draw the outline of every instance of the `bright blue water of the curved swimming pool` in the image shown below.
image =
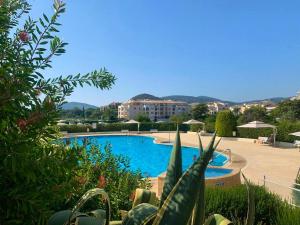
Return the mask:
<path id="1" fill-rule="evenodd" d="M 89 136 L 93 143 L 102 147 L 110 144 L 114 154 L 122 154 L 130 159 L 132 169 L 139 169 L 143 175 L 156 177 L 167 169 L 171 145 L 156 144 L 152 137 L 144 136 Z M 77 138 L 78 143 L 82 143 L 83 137 Z M 186 170 L 192 163 L 195 156 L 198 157 L 197 148 L 182 147 L 182 166 Z M 223 166 L 227 162 L 227 157 L 215 153 L 211 166 Z M 208 168 L 206 177 L 217 177 L 229 174 L 232 170 L 221 168 Z"/>

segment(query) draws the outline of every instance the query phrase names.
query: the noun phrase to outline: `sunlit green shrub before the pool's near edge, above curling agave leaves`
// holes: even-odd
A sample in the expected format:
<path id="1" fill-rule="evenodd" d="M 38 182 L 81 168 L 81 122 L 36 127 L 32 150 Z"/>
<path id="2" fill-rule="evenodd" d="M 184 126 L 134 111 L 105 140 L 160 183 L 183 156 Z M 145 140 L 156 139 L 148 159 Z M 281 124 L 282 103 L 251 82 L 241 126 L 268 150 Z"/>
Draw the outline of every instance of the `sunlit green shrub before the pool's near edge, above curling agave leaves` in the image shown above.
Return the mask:
<path id="1" fill-rule="evenodd" d="M 76 169 L 76 180 L 80 187 L 74 188 L 67 204 L 61 204 L 58 210 L 73 207 L 86 191 L 98 187 L 103 188 L 109 195 L 112 219 L 120 219 L 119 210 L 131 209 L 132 194 L 136 188 L 150 187 L 148 179 L 143 179 L 140 171 L 130 169 L 130 160 L 113 154 L 110 146 L 99 148 L 91 139 L 87 148 L 73 143 L 72 151 L 79 153 L 78 167 L 73 169 Z M 95 199 L 86 207 L 93 210 L 101 204 Z"/>

